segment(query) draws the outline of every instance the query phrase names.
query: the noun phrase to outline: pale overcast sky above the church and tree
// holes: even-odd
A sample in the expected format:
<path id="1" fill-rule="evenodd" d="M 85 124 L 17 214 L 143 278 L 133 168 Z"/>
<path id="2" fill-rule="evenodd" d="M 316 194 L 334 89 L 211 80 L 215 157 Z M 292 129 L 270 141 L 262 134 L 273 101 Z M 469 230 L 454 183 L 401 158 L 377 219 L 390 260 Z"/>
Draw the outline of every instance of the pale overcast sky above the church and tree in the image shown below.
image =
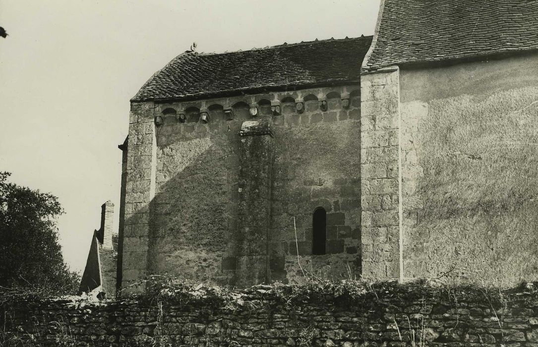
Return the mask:
<path id="1" fill-rule="evenodd" d="M 0 0 L 0 171 L 59 197 L 82 271 L 101 204 L 119 211 L 129 99 L 196 41 L 224 52 L 371 35 L 379 0 Z"/>

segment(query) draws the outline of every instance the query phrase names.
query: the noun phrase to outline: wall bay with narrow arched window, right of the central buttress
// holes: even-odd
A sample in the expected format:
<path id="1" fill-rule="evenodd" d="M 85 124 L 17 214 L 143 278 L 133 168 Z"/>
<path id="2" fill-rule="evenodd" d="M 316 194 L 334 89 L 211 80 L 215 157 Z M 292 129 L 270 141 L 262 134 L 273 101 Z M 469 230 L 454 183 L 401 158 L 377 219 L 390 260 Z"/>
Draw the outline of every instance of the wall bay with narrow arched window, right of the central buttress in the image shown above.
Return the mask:
<path id="1" fill-rule="evenodd" d="M 307 95 L 300 124 L 285 119 L 291 126 L 275 132 L 270 253 L 273 280 L 302 282 L 303 270 L 320 278 L 360 277 L 358 100 L 353 93 L 353 106 L 343 109 L 340 95 L 329 93 L 328 109 L 320 112 L 318 98 Z M 309 123 L 303 123 L 304 119 Z M 327 213 L 327 242 L 325 254 L 312 255 L 313 213 L 318 207 Z"/>

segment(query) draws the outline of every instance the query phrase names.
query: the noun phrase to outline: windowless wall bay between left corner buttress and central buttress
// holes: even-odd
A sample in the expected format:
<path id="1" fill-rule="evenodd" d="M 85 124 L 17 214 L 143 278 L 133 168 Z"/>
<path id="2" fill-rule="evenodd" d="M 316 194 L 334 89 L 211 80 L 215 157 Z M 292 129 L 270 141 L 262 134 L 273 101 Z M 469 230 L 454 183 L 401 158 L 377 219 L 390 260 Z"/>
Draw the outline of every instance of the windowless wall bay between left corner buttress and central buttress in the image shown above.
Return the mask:
<path id="1" fill-rule="evenodd" d="M 220 105 L 208 113 L 207 124 L 189 122 L 196 115 L 186 112 L 185 122 L 165 118 L 156 130 L 147 272 L 233 284 L 235 271 L 221 268 L 223 259 L 235 257 L 237 133 L 249 109 L 239 104 L 232 121 L 225 120 Z"/>

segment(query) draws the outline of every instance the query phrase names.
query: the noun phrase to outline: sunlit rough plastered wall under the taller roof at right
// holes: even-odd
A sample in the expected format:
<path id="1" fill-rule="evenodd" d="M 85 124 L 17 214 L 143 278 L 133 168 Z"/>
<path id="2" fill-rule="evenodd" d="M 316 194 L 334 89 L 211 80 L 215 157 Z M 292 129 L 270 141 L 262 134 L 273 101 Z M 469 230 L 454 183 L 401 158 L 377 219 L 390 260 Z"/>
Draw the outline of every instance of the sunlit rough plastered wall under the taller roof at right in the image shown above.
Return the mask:
<path id="1" fill-rule="evenodd" d="M 538 56 L 400 72 L 404 275 L 538 278 Z"/>

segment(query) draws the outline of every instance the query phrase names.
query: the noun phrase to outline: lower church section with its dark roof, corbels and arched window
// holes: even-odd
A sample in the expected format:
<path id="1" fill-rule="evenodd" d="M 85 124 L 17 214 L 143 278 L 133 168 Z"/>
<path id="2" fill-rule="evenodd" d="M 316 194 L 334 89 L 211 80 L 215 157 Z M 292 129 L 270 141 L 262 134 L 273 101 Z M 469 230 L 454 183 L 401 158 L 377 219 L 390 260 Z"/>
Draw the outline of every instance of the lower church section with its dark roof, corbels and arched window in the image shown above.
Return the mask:
<path id="1" fill-rule="evenodd" d="M 131 100 L 123 285 L 147 273 L 289 281 L 298 254 L 316 275 L 358 277 L 371 41 L 187 52 L 155 74 Z"/>

